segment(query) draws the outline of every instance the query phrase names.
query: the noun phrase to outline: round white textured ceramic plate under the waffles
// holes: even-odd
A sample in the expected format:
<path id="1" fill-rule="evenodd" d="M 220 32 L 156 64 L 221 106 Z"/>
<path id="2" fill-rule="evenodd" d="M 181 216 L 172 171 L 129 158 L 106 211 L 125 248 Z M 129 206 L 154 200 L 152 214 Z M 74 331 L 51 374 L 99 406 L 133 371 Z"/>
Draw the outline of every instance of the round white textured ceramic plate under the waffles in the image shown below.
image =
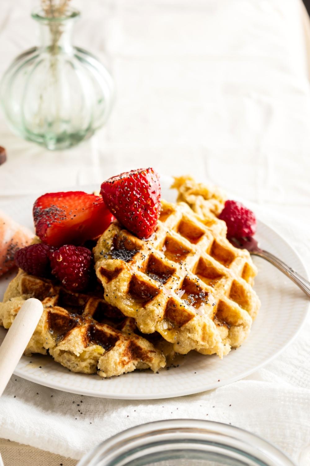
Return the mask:
<path id="1" fill-rule="evenodd" d="M 175 192 L 169 189 L 171 179 L 163 177 L 161 184 L 163 197 L 175 200 Z M 85 187 L 88 192 L 93 189 L 98 189 L 98 186 Z M 23 225 L 32 227 L 34 200 L 35 197 L 25 197 L 12 202 L 8 213 Z M 297 253 L 278 233 L 262 222 L 258 222 L 257 239 L 265 249 L 306 276 Z M 34 355 L 30 359 L 23 356 L 14 374 L 58 390 L 122 399 L 178 397 L 239 380 L 268 363 L 292 341 L 302 327 L 309 307 L 309 301 L 303 293 L 281 272 L 265 260 L 254 258 L 254 261 L 259 270 L 255 290 L 262 306 L 246 342 L 237 350 L 232 350 L 223 360 L 215 355 L 203 356 L 191 352 L 179 357 L 178 367 L 161 370 L 159 374 L 153 374 L 150 370 L 137 370 L 105 380 L 97 375 L 74 374 L 55 363 L 50 356 Z M 8 277 L 0 279 L 0 300 L 7 283 Z M 0 342 L 5 332 L 0 328 Z"/>

